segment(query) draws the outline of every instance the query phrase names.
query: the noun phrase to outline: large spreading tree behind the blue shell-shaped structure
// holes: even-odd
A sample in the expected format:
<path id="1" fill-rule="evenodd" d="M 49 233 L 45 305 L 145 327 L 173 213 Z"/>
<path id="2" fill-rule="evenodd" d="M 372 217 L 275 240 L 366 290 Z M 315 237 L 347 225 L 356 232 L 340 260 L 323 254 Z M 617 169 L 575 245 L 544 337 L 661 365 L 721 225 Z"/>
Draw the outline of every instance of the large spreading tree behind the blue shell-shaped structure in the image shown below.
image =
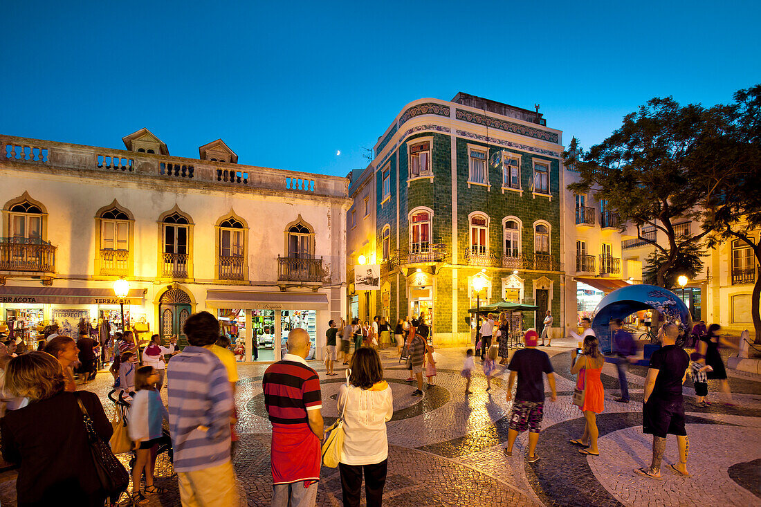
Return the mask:
<path id="1" fill-rule="evenodd" d="M 680 106 L 672 97 L 653 98 L 635 113 L 624 116 L 622 126 L 599 145 L 584 151 L 573 138 L 563 152 L 565 164 L 580 175 L 568 190 L 586 193 L 597 190 L 608 209 L 619 215 L 623 228 L 627 222 L 637 228 L 637 237 L 651 244 L 658 253 L 654 281 L 667 286 L 667 273 L 673 270 L 686 250 L 698 247 L 710 231 L 681 236 L 674 223 L 699 221 L 702 209 L 696 207 L 712 189 L 705 179 L 690 176 L 696 170 L 693 151 L 705 131 L 706 111 L 699 105 Z M 667 244 L 642 235 L 642 226 L 663 232 Z"/>

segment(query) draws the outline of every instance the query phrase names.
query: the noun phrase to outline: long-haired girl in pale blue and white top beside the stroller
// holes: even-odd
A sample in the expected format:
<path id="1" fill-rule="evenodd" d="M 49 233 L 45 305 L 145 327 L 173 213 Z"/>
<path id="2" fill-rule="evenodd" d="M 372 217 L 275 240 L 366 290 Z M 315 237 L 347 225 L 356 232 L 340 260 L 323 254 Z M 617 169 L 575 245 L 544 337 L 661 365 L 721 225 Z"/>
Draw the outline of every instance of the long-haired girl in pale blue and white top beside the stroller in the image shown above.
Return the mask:
<path id="1" fill-rule="evenodd" d="M 166 440 L 161 423 L 169 419 L 167 409 L 158 394 L 158 371 L 153 366 L 142 366 L 135 372 L 135 396 L 129 407 L 129 438 L 135 442 L 135 464 L 132 467 L 132 504 L 145 505 L 148 499 L 140 491 L 140 477 L 145 472 L 145 493 L 164 493 L 166 489 L 154 486 L 153 470 L 156 466 L 158 445 Z"/>

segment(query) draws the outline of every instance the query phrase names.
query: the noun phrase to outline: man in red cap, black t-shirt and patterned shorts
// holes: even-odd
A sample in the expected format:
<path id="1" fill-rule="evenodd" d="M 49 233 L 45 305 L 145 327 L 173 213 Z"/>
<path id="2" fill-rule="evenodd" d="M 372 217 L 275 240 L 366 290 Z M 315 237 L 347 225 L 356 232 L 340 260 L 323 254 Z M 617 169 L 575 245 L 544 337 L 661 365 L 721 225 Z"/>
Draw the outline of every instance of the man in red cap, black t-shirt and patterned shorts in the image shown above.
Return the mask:
<path id="1" fill-rule="evenodd" d="M 550 399 L 552 401 L 557 400 L 552 363 L 549 362 L 549 356 L 546 352 L 537 349 L 538 339 L 539 336 L 536 331 L 528 330 L 524 335 L 526 347 L 516 350 L 508 365 L 508 370 L 510 370 L 508 401 L 512 398 L 513 383 L 516 377 L 518 386 L 515 390 L 513 413 L 510 419 L 510 429 L 508 429 L 508 446 L 505 448 L 505 454 L 513 455 L 515 438 L 517 438 L 518 433 L 528 429 L 529 463 L 539 460 L 539 456 L 534 451 L 536 451 L 537 442 L 539 442 L 539 430 L 544 411 L 543 373 L 547 375 L 547 382 L 550 390 L 552 390 Z"/>

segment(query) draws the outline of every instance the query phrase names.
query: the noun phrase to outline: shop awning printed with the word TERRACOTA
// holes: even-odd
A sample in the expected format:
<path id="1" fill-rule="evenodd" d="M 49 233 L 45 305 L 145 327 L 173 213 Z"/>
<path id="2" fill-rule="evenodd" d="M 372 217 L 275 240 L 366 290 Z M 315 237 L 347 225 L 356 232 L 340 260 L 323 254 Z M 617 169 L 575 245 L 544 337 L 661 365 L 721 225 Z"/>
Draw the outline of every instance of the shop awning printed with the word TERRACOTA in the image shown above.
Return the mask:
<path id="1" fill-rule="evenodd" d="M 129 289 L 127 298 L 120 300 L 113 289 L 86 289 L 82 287 L 21 287 L 0 286 L 0 303 L 27 305 L 142 305 L 145 289 Z"/>

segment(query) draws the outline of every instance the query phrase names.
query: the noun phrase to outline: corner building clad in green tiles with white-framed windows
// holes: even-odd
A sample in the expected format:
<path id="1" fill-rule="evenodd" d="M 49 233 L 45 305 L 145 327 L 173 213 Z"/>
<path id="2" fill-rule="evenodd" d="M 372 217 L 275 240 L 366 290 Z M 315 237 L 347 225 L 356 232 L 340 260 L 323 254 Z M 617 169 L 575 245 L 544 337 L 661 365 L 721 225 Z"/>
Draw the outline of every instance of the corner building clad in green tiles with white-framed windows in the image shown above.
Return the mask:
<path id="1" fill-rule="evenodd" d="M 535 304 L 561 327 L 561 153 L 537 111 L 463 93 L 407 104 L 349 175 L 349 279 L 360 256 L 380 264 L 380 290 L 349 286 L 350 313 L 424 312 L 434 343 L 468 343 L 482 277 L 482 305 Z"/>

